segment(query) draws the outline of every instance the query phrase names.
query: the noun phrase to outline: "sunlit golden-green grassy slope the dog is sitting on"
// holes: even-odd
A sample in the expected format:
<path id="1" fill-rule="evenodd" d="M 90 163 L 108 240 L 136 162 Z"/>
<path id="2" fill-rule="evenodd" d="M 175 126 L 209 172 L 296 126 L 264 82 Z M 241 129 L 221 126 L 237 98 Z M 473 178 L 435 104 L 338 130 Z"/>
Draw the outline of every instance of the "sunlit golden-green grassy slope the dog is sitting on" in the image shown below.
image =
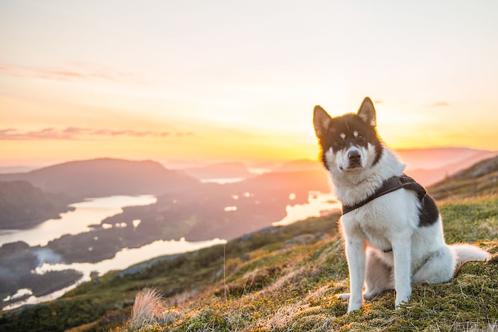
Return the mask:
<path id="1" fill-rule="evenodd" d="M 477 243 L 494 256 L 489 262 L 464 264 L 451 282 L 415 285 L 412 299 L 401 310 L 394 309 L 395 294 L 390 291 L 368 301 L 361 311 L 346 314 L 346 303 L 334 294 L 348 290 L 347 265 L 341 240 L 332 231 L 323 238 L 300 236 L 230 257 L 224 279 L 183 294 L 166 294 L 150 308 L 156 313 L 152 314 L 155 321 L 140 326 L 140 321 L 132 320 L 117 331 L 139 327 L 143 331 L 497 328 L 497 211 L 497 196 L 441 205 L 448 242 Z"/>

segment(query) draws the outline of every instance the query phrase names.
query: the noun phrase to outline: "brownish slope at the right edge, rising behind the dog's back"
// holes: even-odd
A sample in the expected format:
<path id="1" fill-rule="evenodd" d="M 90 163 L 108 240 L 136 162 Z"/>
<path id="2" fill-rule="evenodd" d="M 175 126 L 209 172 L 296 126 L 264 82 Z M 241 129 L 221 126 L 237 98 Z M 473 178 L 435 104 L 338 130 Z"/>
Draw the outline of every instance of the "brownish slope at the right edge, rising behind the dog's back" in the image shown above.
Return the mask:
<path id="1" fill-rule="evenodd" d="M 437 200 L 498 193 L 498 156 L 480 161 L 428 188 Z"/>

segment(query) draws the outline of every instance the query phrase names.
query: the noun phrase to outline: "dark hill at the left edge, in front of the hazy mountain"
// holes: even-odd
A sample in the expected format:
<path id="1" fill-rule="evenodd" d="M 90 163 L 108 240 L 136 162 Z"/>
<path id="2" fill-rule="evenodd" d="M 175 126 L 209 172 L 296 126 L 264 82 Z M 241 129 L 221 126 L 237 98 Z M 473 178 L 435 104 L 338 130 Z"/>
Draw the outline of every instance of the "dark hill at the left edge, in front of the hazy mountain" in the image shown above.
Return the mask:
<path id="1" fill-rule="evenodd" d="M 62 194 L 43 192 L 26 181 L 0 182 L 0 229 L 25 229 L 71 210 Z"/>

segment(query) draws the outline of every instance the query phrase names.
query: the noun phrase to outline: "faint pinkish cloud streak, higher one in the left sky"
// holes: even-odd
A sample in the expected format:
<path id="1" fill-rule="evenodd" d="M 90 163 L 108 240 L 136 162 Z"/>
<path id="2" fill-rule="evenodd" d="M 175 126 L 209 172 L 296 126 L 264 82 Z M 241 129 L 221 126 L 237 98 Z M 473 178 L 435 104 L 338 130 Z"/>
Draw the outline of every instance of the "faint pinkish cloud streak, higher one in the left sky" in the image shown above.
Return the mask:
<path id="1" fill-rule="evenodd" d="M 0 63 L 0 73 L 14 77 L 33 77 L 44 80 L 104 80 L 113 82 L 141 82 L 132 73 L 117 70 L 107 65 L 71 62 L 60 68 L 38 68 Z"/>

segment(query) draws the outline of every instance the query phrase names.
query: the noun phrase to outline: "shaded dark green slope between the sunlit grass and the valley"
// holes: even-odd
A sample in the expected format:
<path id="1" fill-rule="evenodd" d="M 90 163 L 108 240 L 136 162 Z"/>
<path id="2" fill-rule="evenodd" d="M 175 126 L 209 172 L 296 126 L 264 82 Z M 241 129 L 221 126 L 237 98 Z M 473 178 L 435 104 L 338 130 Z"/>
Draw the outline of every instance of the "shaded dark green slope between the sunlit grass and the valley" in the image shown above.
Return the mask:
<path id="1" fill-rule="evenodd" d="M 88 331 L 122 323 L 139 289 L 155 287 L 165 296 L 201 289 L 223 278 L 223 259 L 245 261 L 265 247 L 287 240 L 327 236 L 336 218 L 310 219 L 287 227 L 268 227 L 228 242 L 187 253 L 158 257 L 121 272 L 110 272 L 68 292 L 58 300 L 0 313 L 0 331 L 65 331 L 82 326 Z M 235 261 L 234 261 L 235 262 Z M 83 331 L 83 330 L 82 330 Z"/>

